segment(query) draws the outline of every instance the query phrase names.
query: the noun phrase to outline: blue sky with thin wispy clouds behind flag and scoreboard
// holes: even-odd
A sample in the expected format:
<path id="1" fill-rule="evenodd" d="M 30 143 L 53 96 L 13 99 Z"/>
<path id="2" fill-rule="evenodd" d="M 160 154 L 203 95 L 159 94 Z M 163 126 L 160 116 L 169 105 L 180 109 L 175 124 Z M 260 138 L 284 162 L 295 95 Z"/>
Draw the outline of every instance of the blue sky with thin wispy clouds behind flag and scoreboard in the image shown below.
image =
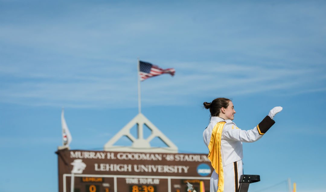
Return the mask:
<path id="1" fill-rule="evenodd" d="M 102 150 L 142 113 L 182 153 L 207 153 L 203 102 L 232 98 L 249 191 L 325 191 L 324 1 L 0 1 L 1 191 L 57 191 L 61 108 L 71 149 Z M 191 141 L 191 142 L 189 142 Z"/>

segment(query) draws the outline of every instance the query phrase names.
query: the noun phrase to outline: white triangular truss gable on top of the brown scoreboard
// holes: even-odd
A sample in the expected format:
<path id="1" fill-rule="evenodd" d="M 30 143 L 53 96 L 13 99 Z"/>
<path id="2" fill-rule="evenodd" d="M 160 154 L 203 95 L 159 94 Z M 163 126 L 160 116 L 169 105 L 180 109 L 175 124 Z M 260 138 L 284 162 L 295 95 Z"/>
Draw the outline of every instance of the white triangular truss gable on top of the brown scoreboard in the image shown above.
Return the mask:
<path id="1" fill-rule="evenodd" d="M 135 138 L 130 134 L 130 129 L 137 124 L 137 135 Z M 152 134 L 144 138 L 143 125 L 151 129 Z M 131 146 L 114 146 L 121 137 L 127 136 L 131 141 Z M 151 147 L 150 141 L 159 137 L 168 147 Z M 134 119 L 126 124 L 117 134 L 115 134 L 105 145 L 104 151 L 132 151 L 132 152 L 152 152 L 152 153 L 177 153 L 178 147 L 175 146 L 152 122 L 143 114 L 139 113 Z"/>

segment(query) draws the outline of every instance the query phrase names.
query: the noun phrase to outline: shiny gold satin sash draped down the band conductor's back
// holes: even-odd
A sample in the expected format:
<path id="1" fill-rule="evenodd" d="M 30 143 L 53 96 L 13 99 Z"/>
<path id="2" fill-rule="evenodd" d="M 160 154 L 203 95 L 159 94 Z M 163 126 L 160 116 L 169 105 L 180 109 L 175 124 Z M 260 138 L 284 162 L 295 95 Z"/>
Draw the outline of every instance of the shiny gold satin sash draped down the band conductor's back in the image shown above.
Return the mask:
<path id="1" fill-rule="evenodd" d="M 218 189 L 217 192 L 224 191 L 224 174 L 221 157 L 221 136 L 225 122 L 216 123 L 212 131 L 211 141 L 209 142 L 208 159 L 211 161 L 213 168 L 218 174 Z"/>

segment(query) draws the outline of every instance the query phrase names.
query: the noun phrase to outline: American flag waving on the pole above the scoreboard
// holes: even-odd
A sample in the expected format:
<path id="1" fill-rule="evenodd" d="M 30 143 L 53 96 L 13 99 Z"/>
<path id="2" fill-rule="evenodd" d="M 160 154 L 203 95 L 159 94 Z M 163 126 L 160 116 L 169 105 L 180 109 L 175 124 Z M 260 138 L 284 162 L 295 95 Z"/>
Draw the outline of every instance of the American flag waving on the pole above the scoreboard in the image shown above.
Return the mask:
<path id="1" fill-rule="evenodd" d="M 139 76 L 141 77 L 141 81 L 144 81 L 147 78 L 161 75 L 164 73 L 169 73 L 173 76 L 175 72 L 173 68 L 161 69 L 156 65 L 152 65 L 150 63 L 143 62 L 143 61 L 139 61 L 139 69 L 140 69 Z"/>

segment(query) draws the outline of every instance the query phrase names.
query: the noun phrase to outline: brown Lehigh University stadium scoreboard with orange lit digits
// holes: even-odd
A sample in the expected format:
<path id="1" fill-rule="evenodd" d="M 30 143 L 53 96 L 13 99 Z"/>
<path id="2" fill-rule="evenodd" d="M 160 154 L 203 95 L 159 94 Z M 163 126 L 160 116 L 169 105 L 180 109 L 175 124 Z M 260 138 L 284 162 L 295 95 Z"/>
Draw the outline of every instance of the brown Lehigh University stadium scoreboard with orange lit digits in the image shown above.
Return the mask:
<path id="1" fill-rule="evenodd" d="M 58 154 L 59 191 L 183 192 L 187 182 L 209 191 L 207 154 L 81 151 Z M 73 186 L 73 188 L 72 188 Z"/>

